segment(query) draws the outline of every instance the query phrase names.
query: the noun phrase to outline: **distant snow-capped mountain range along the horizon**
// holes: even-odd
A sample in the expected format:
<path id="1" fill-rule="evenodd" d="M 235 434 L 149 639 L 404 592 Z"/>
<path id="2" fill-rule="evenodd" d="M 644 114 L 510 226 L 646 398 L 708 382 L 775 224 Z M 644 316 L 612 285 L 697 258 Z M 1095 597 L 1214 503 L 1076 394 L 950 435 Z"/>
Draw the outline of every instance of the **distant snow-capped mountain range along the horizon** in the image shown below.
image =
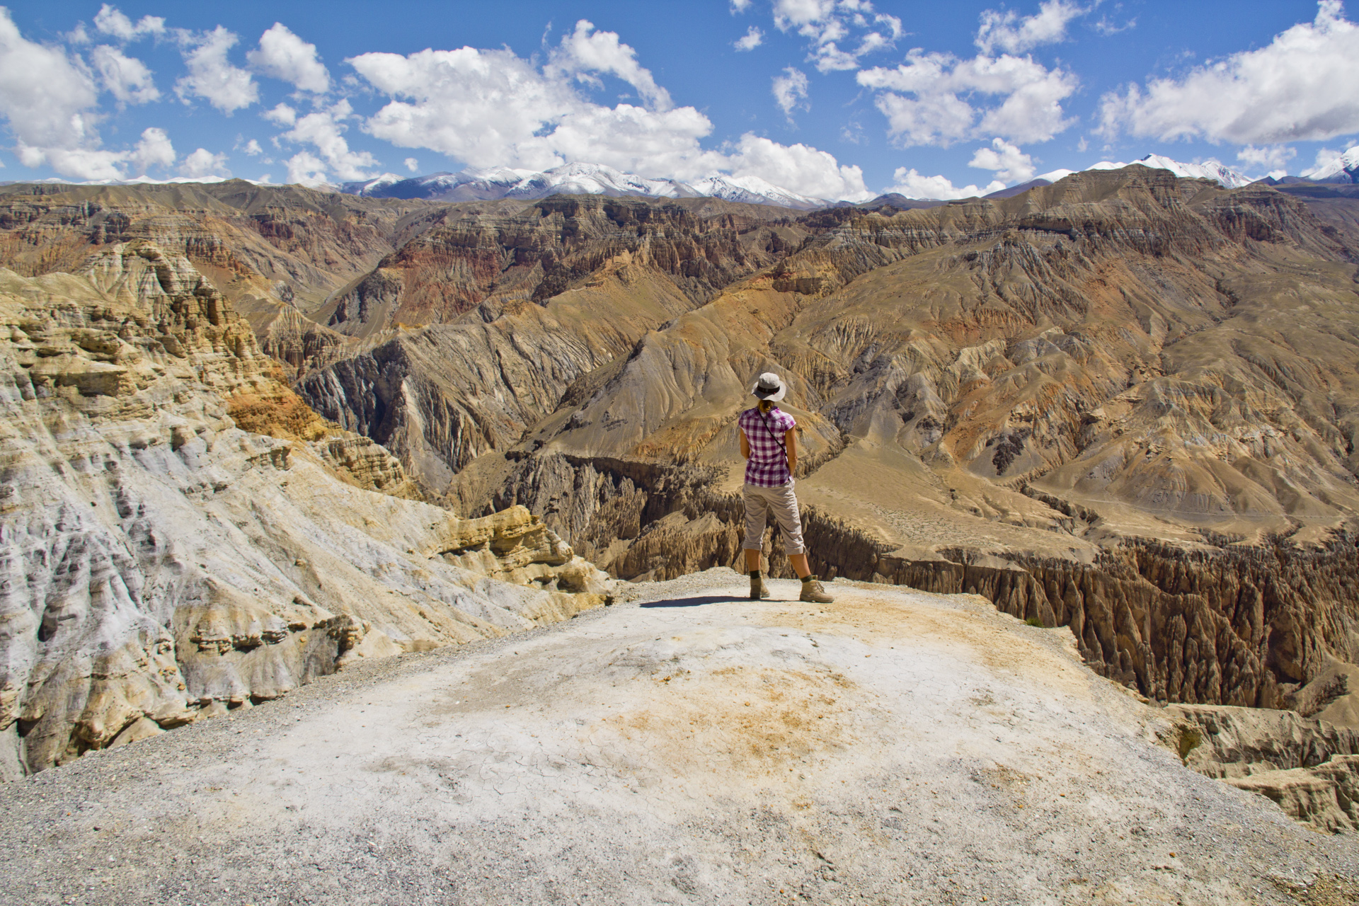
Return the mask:
<path id="1" fill-rule="evenodd" d="M 1269 185 L 1296 183 L 1296 182 L 1324 182 L 1324 183 L 1359 183 L 1359 145 L 1349 148 L 1333 162 L 1305 171 L 1301 177 L 1283 177 L 1282 179 L 1265 178 L 1252 179 L 1239 170 L 1233 170 L 1218 162 L 1184 163 L 1162 155 L 1147 155 L 1132 163 L 1140 163 L 1154 170 L 1169 170 L 1177 177 L 1193 179 L 1215 179 L 1227 189 L 1239 189 L 1252 182 L 1268 182 Z M 1129 166 L 1124 162 L 1101 160 L 1086 167 L 1086 170 L 1121 170 Z M 1010 198 L 1036 186 L 1049 186 L 1053 182 L 1068 177 L 1075 170 L 1053 170 L 1034 179 L 1010 186 L 999 192 L 992 192 L 987 198 Z M 164 185 L 185 182 L 223 182 L 223 177 L 188 178 L 177 177 L 171 179 L 152 179 L 151 177 L 136 177 L 132 179 L 91 179 L 75 185 Z M 65 183 L 67 179 L 39 179 L 37 182 Z M 254 182 L 247 179 L 246 182 Z M 5 185 L 5 182 L 0 182 Z M 265 183 L 255 183 L 265 185 Z M 314 186 L 325 189 L 328 186 Z M 641 197 L 641 198 L 701 198 L 715 197 L 726 201 L 739 201 L 746 204 L 777 205 L 794 208 L 796 211 L 811 211 L 815 208 L 849 205 L 848 201 L 833 198 L 813 198 L 802 196 L 788 189 L 783 189 L 758 177 L 728 177 L 713 174 L 692 182 L 680 179 L 665 179 L 639 177 L 633 173 L 622 173 L 597 163 L 568 163 L 552 170 L 518 170 L 514 167 L 492 167 L 487 170 L 466 168 L 459 173 L 434 173 L 424 177 L 401 177 L 394 173 L 385 173 L 372 179 L 359 182 L 345 182 L 340 186 L 329 186 L 338 192 L 364 196 L 368 198 L 428 198 L 432 201 L 491 201 L 497 198 L 520 198 L 533 201 L 554 194 L 591 194 L 609 196 L 614 198 Z M 860 202 L 862 206 L 881 206 L 890 204 L 898 209 L 928 208 L 945 204 L 940 198 L 908 198 L 898 193 L 878 196 L 872 201 Z"/>

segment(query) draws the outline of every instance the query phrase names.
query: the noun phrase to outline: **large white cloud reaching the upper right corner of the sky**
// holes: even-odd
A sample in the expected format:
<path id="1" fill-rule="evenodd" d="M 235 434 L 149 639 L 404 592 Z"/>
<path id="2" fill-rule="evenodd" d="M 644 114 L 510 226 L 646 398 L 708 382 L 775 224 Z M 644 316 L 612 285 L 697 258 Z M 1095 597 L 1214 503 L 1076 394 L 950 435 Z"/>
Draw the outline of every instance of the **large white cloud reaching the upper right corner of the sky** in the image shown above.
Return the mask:
<path id="1" fill-rule="evenodd" d="M 1339 0 L 1313 22 L 1167 79 L 1112 91 L 1099 103 L 1101 134 L 1205 139 L 1235 144 L 1324 141 L 1359 132 L 1359 27 Z"/>

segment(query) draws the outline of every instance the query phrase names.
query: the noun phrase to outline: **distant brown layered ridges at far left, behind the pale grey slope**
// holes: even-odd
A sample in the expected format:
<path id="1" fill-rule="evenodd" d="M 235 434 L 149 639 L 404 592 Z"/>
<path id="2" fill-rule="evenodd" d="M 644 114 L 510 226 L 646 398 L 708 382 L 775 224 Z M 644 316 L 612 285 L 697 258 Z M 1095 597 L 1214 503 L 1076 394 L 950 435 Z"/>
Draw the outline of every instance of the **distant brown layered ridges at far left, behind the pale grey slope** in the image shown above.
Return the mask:
<path id="1" fill-rule="evenodd" d="M 334 361 L 345 337 L 307 316 L 429 225 L 423 201 L 356 198 L 234 179 L 170 186 L 0 189 L 0 268 L 77 272 L 90 255 L 152 242 L 212 280 L 288 379 Z M 348 350 L 345 355 L 352 355 Z"/>

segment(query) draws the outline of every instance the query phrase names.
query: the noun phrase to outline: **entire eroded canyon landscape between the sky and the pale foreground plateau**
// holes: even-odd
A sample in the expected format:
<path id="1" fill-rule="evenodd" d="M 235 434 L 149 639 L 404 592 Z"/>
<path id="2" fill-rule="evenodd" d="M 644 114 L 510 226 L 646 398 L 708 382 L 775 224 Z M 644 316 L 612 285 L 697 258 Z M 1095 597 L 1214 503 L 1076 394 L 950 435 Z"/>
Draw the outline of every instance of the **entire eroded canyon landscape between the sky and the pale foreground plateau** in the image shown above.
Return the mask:
<path id="1" fill-rule="evenodd" d="M 1140 166 L 810 212 L 7 186 L 7 776 L 737 564 L 761 371 L 824 576 L 1356 728 L 1354 205 Z"/>

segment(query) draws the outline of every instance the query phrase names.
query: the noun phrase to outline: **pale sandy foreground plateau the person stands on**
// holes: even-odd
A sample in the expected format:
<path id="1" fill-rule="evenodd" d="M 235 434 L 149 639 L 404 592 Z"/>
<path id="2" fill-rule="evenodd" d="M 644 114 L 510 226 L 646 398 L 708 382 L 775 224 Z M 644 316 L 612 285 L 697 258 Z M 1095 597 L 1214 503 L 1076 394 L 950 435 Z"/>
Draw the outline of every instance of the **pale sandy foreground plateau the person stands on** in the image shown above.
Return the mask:
<path id="1" fill-rule="evenodd" d="M 7 784 L 0 902 L 1356 902 L 1068 630 L 830 588 L 631 585 Z"/>

